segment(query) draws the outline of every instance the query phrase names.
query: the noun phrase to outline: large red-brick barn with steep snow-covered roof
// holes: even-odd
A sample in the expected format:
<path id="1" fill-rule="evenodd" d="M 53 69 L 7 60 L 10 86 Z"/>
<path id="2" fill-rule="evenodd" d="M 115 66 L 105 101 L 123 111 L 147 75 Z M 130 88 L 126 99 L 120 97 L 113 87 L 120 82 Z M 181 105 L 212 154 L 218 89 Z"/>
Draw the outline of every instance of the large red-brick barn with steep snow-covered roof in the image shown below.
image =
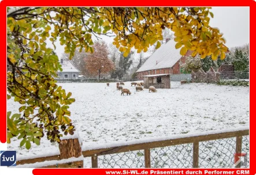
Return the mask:
<path id="1" fill-rule="evenodd" d="M 185 56 L 180 55 L 180 49 L 175 48 L 174 40 L 166 40 L 165 44 L 156 50 L 142 67 L 136 71 L 138 80 L 143 80 L 144 75 L 155 74 L 182 74 L 180 65 L 185 63 L 185 58 L 192 53 L 188 51 Z"/>

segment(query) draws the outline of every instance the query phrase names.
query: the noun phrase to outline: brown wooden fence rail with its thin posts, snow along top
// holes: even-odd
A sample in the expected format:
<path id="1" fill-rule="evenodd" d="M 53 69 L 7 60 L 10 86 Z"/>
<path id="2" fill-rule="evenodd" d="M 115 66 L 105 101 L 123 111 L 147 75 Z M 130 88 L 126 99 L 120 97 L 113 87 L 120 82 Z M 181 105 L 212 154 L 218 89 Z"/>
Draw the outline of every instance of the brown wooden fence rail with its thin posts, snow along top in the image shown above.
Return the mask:
<path id="1" fill-rule="evenodd" d="M 169 140 L 161 140 L 161 141 L 155 141 L 155 142 L 116 146 L 116 147 L 110 147 L 110 148 L 106 148 L 106 149 L 94 149 L 94 150 L 81 151 L 81 148 L 77 149 L 77 148 L 73 147 L 71 150 L 74 152 L 73 154 L 77 154 L 76 152 L 78 151 L 79 154 L 77 154 L 77 156 L 79 156 L 81 154 L 81 155 L 83 155 L 83 157 L 91 157 L 92 168 L 98 168 L 98 156 L 100 156 L 100 155 L 144 150 L 144 163 L 145 163 L 144 166 L 145 166 L 145 168 L 151 168 L 150 149 L 154 149 L 154 148 L 158 148 L 158 147 L 166 147 L 166 146 L 175 146 L 178 144 L 192 143 L 193 144 L 193 168 L 198 168 L 199 167 L 199 165 L 198 165 L 199 164 L 199 142 L 205 142 L 205 141 L 217 140 L 217 139 L 236 138 L 236 153 L 241 153 L 241 151 L 242 151 L 242 136 L 246 136 L 246 135 L 249 135 L 249 130 L 220 132 L 217 134 L 208 134 L 208 135 L 202 134 L 202 135 L 183 137 L 183 138 L 177 138 L 177 139 L 169 139 Z M 67 151 L 67 149 L 65 149 L 65 151 Z M 60 150 L 60 152 L 61 152 L 61 150 Z M 52 161 L 52 160 L 61 160 L 61 156 L 53 155 L 50 157 L 24 159 L 24 160 L 17 161 L 17 165 L 23 165 L 25 163 Z M 68 167 L 68 165 L 71 163 L 66 163 L 66 164 L 67 165 L 64 167 Z M 72 167 L 79 166 L 79 168 L 80 168 L 81 165 L 82 165 L 81 162 L 79 164 L 75 163 L 75 165 L 73 164 Z M 240 166 L 241 166 L 241 164 L 239 163 L 238 165 L 236 165 L 236 168 L 240 168 Z M 51 168 L 51 167 L 52 166 L 49 166 L 47 168 Z M 56 166 L 54 166 L 54 168 L 55 167 Z M 63 167 L 63 166 L 59 166 L 59 167 Z"/>

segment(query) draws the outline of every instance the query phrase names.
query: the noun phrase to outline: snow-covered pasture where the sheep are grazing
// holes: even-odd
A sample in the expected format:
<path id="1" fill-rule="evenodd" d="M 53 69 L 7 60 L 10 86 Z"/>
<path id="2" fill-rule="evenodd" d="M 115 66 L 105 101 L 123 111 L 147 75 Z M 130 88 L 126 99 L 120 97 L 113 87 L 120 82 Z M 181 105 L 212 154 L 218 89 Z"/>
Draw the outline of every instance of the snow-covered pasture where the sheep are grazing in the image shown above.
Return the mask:
<path id="1" fill-rule="evenodd" d="M 149 93 L 148 89 L 136 92 L 131 82 L 125 82 L 123 87 L 132 94 L 121 96 L 116 83 L 59 85 L 76 98 L 70 105 L 71 119 L 83 147 L 249 125 L 248 87 L 171 82 L 171 89 Z M 8 100 L 8 111 L 18 112 L 18 107 L 17 102 Z M 32 144 L 27 150 L 20 147 L 20 140 L 13 139 L 8 150 L 16 150 L 17 158 L 33 157 L 58 152 L 58 145 L 43 138 L 40 146 Z M 90 163 L 84 166 L 90 167 Z"/>

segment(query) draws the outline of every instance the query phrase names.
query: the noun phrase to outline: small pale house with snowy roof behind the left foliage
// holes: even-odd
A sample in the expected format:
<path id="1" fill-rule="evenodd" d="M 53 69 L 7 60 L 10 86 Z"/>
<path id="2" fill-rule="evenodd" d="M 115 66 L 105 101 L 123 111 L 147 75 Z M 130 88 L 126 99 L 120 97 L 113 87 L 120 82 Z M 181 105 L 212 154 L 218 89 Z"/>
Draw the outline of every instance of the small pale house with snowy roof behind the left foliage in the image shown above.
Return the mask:
<path id="1" fill-rule="evenodd" d="M 76 79 L 79 78 L 80 71 L 71 63 L 70 60 L 61 59 L 62 71 L 58 71 L 60 79 Z"/>

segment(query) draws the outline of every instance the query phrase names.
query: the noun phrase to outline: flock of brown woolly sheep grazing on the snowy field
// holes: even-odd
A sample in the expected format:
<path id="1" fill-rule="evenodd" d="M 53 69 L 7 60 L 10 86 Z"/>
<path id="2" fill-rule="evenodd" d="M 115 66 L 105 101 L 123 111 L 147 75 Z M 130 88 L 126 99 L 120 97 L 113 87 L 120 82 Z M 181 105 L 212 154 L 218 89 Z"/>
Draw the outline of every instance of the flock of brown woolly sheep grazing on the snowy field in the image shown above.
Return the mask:
<path id="1" fill-rule="evenodd" d="M 120 83 L 117 83 L 117 90 L 121 90 L 121 95 L 123 94 L 124 96 L 124 93 L 131 95 L 131 92 L 129 89 L 123 89 L 123 86 L 121 85 L 124 85 L 124 82 L 120 82 Z M 136 86 L 136 92 L 140 91 L 140 90 L 143 90 L 142 86 L 144 87 L 144 83 L 143 82 L 139 82 L 139 83 L 136 83 L 136 82 L 131 82 L 131 86 L 134 85 Z M 109 83 L 107 83 L 107 86 L 109 86 Z M 150 86 L 149 87 L 149 92 L 157 92 L 157 89 L 155 89 L 154 86 Z"/>

